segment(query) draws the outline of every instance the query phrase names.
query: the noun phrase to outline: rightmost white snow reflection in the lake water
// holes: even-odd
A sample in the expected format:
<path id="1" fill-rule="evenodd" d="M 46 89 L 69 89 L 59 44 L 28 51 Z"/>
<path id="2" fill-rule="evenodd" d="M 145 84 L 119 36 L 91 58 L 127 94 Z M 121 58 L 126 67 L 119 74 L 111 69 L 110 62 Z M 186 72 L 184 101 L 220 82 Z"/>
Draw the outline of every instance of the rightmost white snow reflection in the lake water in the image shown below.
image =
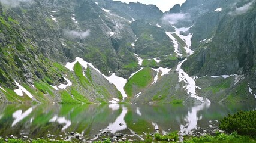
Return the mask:
<path id="1" fill-rule="evenodd" d="M 195 129 L 197 126 L 197 121 L 202 119 L 202 116 L 198 117 L 198 111 L 204 110 L 204 108 L 209 108 L 210 103 L 197 105 L 191 108 L 191 111 L 188 111 L 188 116 L 185 117 L 186 125 L 180 125 L 180 133 L 182 135 L 188 134 L 189 131 Z"/>

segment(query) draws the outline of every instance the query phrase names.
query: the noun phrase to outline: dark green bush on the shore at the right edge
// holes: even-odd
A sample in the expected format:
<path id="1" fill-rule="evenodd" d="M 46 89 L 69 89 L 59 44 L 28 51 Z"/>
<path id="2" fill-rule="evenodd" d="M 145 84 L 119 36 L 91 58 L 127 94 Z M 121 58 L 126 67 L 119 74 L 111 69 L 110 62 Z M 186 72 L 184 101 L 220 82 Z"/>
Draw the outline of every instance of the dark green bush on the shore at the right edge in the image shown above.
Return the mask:
<path id="1" fill-rule="evenodd" d="M 228 114 L 221 120 L 219 128 L 229 133 L 256 136 L 256 111 L 239 111 L 233 116 Z"/>

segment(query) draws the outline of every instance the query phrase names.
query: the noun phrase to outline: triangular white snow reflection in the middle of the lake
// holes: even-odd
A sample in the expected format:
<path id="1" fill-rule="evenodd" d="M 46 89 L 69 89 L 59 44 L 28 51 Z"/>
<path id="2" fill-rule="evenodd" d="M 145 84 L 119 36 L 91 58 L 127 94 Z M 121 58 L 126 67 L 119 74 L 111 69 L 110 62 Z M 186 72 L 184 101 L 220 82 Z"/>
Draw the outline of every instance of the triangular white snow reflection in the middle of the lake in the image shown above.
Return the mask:
<path id="1" fill-rule="evenodd" d="M 116 133 L 120 130 L 124 130 L 127 128 L 127 123 L 125 123 L 124 117 L 127 114 L 127 108 L 122 107 L 122 113 L 116 118 L 115 122 L 109 123 L 105 131 L 110 131 L 111 133 Z"/>

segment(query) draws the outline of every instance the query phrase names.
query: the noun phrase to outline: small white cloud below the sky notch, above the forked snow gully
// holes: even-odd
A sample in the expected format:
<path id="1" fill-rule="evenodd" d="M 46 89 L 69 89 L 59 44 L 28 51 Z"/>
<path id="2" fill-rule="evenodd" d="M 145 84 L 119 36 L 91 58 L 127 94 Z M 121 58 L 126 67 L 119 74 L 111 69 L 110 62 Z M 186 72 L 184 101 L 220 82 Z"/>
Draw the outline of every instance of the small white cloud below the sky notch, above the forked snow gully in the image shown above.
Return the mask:
<path id="1" fill-rule="evenodd" d="M 165 14 L 162 20 L 169 21 L 171 24 L 176 24 L 180 21 L 189 21 L 189 14 L 185 13 L 172 13 Z"/>

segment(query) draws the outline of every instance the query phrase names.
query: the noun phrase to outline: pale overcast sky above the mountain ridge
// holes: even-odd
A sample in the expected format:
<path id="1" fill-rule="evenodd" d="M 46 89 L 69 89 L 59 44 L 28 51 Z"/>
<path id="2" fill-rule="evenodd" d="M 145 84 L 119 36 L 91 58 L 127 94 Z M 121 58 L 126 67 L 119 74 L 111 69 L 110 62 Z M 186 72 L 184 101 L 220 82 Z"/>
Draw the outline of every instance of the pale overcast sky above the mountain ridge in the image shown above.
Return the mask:
<path id="1" fill-rule="evenodd" d="M 186 0 L 113 0 L 121 1 L 129 4 L 129 2 L 140 2 L 143 4 L 153 4 L 156 5 L 163 12 L 170 10 L 175 4 L 183 4 Z"/>

